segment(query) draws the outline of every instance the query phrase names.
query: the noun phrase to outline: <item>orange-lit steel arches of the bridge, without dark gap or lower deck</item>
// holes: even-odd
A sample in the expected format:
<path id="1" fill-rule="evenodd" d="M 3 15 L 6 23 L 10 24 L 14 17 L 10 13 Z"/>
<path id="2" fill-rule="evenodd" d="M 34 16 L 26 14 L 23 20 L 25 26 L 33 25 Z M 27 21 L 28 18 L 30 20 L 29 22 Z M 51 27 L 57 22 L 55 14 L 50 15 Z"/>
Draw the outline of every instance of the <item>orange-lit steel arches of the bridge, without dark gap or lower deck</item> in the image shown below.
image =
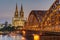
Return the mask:
<path id="1" fill-rule="evenodd" d="M 28 22 L 25 25 L 25 30 L 60 32 L 59 0 L 56 0 L 53 3 L 50 9 L 45 13 L 45 16 L 42 18 L 42 21 L 37 21 L 36 24 L 34 22 L 37 20 L 37 18 L 35 17 L 34 12 L 31 12 L 28 17 Z"/>

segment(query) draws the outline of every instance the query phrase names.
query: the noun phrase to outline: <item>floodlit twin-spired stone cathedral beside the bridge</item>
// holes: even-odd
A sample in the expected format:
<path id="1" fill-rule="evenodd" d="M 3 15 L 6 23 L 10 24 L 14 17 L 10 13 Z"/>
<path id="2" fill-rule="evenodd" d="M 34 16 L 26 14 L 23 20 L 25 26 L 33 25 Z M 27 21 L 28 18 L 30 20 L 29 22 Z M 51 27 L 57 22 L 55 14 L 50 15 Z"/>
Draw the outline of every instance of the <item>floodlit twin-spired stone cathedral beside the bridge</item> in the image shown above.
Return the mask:
<path id="1" fill-rule="evenodd" d="M 14 17 L 12 18 L 12 25 L 14 27 L 24 27 L 24 24 L 25 24 L 25 20 L 24 20 L 23 6 L 21 5 L 21 10 L 20 12 L 18 12 L 18 7 L 16 4 Z"/>

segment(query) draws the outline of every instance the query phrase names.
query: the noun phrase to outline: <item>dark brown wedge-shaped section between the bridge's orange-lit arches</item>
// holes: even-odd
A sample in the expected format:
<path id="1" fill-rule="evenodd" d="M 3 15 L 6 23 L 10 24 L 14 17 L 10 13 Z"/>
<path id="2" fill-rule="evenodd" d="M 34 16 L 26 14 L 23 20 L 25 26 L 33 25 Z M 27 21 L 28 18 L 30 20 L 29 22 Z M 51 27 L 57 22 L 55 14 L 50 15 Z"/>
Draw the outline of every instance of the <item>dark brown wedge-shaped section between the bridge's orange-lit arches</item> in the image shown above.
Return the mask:
<path id="1" fill-rule="evenodd" d="M 36 19 L 39 22 L 41 22 L 43 20 L 43 17 L 45 16 L 46 12 L 47 12 L 47 10 L 32 10 L 30 15 L 33 14 L 36 17 Z"/>

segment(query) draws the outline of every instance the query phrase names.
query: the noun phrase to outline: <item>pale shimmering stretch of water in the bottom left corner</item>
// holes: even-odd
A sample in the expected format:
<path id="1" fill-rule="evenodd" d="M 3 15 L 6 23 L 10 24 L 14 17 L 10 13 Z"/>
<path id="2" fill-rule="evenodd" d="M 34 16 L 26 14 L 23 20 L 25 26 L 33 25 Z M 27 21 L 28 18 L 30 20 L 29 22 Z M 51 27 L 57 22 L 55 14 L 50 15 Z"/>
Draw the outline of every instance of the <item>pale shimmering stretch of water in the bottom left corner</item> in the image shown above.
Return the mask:
<path id="1" fill-rule="evenodd" d="M 9 36 L 9 35 L 0 35 L 0 40 L 25 40 L 21 35 Z"/>

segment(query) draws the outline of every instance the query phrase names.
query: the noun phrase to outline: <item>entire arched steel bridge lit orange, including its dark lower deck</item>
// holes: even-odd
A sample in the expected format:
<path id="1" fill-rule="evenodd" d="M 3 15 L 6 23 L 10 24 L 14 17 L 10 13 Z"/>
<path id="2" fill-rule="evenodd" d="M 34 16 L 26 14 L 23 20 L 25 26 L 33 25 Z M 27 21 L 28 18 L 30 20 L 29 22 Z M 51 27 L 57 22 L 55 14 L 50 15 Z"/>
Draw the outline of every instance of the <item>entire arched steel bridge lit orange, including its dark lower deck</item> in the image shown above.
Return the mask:
<path id="1" fill-rule="evenodd" d="M 60 35 L 60 3 L 56 0 L 49 10 L 32 10 L 22 28 L 24 36 Z"/>

